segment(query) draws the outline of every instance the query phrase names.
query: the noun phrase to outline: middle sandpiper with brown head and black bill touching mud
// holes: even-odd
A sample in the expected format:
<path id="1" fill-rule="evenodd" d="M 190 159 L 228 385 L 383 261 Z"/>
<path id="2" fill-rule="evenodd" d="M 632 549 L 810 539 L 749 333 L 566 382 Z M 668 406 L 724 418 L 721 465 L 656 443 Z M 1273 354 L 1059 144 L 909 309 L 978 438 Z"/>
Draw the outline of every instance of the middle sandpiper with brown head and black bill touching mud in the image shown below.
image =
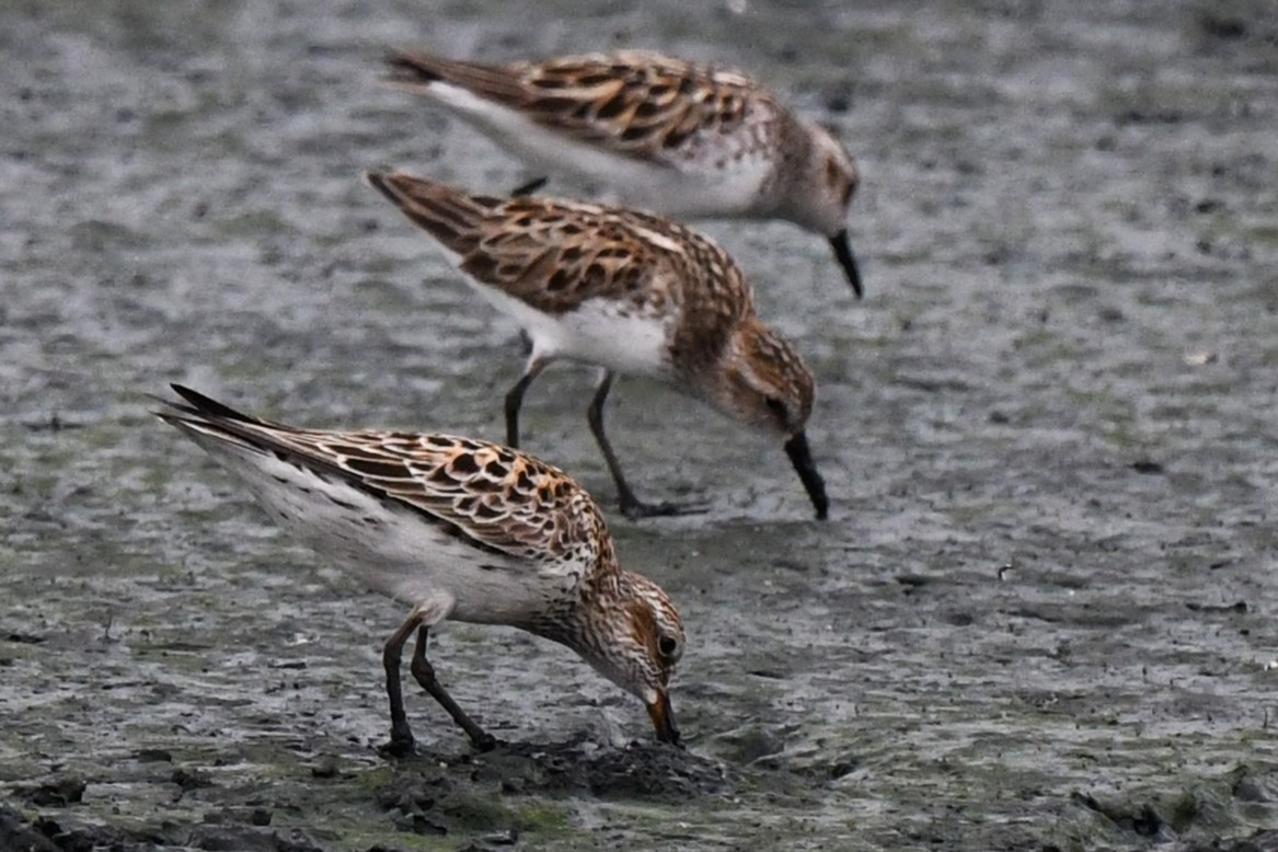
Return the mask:
<path id="1" fill-rule="evenodd" d="M 560 199 L 469 195 L 394 171 L 368 183 L 428 231 L 470 285 L 527 332 L 532 351 L 506 395 L 506 442 L 519 446 L 524 391 L 556 358 L 597 364 L 587 411 L 630 517 L 680 507 L 640 502 L 603 432 L 617 373 L 662 379 L 730 418 L 785 438 L 817 517 L 829 501 L 804 427 L 814 381 L 803 359 L 759 321 L 740 268 L 723 249 L 659 216 Z"/>

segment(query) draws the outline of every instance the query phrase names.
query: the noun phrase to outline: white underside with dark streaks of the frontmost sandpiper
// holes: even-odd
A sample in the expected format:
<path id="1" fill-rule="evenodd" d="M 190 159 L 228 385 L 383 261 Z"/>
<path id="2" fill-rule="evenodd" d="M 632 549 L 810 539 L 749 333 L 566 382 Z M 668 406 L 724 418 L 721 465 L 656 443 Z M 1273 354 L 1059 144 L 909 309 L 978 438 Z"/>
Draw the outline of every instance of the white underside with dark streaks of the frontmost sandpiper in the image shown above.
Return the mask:
<path id="1" fill-rule="evenodd" d="M 580 577 L 576 571 L 548 566 L 538 570 L 543 566 L 479 551 L 417 512 L 390 506 L 336 474 L 321 478 L 219 434 L 193 437 L 249 485 L 281 529 L 322 556 L 334 557 L 337 567 L 371 589 L 429 612 L 429 623 L 446 617 L 477 623 L 519 622 L 542 611 L 547 600 L 561 598 Z M 339 506 L 330 497 L 354 508 Z"/>

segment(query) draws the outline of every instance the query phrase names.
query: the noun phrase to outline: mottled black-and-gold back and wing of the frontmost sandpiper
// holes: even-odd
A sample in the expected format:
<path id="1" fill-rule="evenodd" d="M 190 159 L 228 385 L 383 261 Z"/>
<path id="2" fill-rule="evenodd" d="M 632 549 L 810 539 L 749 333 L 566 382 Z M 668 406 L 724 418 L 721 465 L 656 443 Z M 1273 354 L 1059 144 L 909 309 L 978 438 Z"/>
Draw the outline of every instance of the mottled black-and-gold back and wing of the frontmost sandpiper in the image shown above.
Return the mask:
<path id="1" fill-rule="evenodd" d="M 401 432 L 322 432 L 258 420 L 174 386 L 189 406 L 166 419 L 213 427 L 427 520 L 472 544 L 541 563 L 547 572 L 607 567 L 602 515 L 571 476 L 521 452 L 470 438 Z"/>

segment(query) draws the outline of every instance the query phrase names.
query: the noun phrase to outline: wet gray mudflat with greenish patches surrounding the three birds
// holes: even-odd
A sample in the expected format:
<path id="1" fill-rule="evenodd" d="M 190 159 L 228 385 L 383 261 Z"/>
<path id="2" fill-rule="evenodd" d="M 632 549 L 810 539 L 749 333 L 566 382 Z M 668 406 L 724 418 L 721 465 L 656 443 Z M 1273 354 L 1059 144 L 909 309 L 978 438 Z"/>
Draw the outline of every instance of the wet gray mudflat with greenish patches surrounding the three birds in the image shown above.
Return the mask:
<path id="1" fill-rule="evenodd" d="M 0 4 L 0 848 L 1278 847 L 1272 3 L 579 5 Z M 456 626 L 507 745 L 414 692 L 381 759 L 404 613 L 148 414 L 501 436 L 512 327 L 358 172 L 530 175 L 386 45 L 713 57 L 859 157 L 864 303 L 819 239 L 705 225 L 818 374 L 829 522 L 780 448 L 613 397 L 642 493 L 712 503 L 611 517 L 684 612 L 686 754 Z M 611 508 L 590 381 L 534 386 L 527 446 Z"/>

